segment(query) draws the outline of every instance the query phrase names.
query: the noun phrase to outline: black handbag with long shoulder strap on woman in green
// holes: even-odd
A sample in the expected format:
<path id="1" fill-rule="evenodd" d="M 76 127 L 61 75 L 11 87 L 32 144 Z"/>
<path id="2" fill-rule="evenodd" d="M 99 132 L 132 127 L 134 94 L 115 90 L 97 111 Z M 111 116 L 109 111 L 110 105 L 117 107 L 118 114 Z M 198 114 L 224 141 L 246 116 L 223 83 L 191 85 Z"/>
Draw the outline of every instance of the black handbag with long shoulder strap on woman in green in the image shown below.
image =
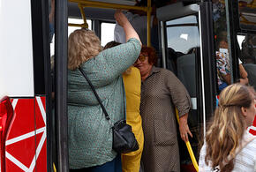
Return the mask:
<path id="1" fill-rule="evenodd" d="M 83 74 L 83 76 L 87 79 L 88 84 L 91 86 L 95 97 L 99 101 L 102 110 L 105 114 L 106 119 L 110 123 L 110 118 L 109 114 L 107 113 L 106 108 L 103 106 L 102 101 L 96 92 L 93 84 L 91 81 L 87 78 L 86 73 L 79 67 L 79 71 Z M 124 109 L 125 113 L 125 109 Z M 113 142 L 112 142 L 112 148 L 117 152 L 117 153 L 131 153 L 133 151 L 137 151 L 139 149 L 139 144 L 132 132 L 132 127 L 131 125 L 126 123 L 125 119 L 121 119 L 117 121 L 116 123 L 111 124 L 111 128 L 113 131 Z"/>

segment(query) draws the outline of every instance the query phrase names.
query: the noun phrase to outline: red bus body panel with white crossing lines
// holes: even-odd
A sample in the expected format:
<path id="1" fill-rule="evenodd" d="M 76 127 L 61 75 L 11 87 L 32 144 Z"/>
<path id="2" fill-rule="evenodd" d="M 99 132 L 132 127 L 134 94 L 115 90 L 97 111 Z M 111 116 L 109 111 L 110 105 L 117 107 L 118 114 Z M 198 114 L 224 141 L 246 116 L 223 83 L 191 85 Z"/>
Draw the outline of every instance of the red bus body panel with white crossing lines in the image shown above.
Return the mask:
<path id="1" fill-rule="evenodd" d="M 45 97 L 12 99 L 14 118 L 6 140 L 6 171 L 47 171 Z"/>

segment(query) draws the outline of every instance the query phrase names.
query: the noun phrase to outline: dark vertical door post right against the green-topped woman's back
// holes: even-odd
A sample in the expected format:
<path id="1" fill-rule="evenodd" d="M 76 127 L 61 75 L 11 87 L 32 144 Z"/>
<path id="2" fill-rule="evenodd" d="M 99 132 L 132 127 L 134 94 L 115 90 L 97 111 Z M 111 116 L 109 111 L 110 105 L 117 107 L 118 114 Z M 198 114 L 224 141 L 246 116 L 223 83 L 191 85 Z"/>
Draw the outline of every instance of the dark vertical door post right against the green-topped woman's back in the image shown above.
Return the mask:
<path id="1" fill-rule="evenodd" d="M 57 171 L 68 172 L 67 123 L 67 0 L 56 0 L 56 153 Z"/>

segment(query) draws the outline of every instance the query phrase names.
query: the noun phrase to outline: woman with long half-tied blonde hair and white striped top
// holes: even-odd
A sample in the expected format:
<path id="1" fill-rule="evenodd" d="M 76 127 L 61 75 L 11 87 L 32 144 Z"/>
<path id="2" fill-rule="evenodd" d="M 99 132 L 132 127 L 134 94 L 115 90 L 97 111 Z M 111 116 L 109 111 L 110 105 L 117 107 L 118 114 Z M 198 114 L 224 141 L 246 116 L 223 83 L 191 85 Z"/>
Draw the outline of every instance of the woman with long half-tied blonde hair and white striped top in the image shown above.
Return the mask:
<path id="1" fill-rule="evenodd" d="M 200 171 L 256 171 L 256 137 L 246 131 L 256 113 L 255 91 L 227 86 L 200 151 Z"/>

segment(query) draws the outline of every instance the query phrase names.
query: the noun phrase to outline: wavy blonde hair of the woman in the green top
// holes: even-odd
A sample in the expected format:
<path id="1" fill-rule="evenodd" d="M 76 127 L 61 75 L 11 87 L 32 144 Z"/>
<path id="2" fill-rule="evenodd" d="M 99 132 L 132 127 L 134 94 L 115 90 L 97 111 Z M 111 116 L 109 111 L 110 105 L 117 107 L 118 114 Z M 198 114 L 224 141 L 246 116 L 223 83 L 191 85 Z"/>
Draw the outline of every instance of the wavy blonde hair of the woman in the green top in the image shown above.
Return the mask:
<path id="1" fill-rule="evenodd" d="M 102 51 L 101 41 L 88 29 L 75 30 L 69 36 L 68 69 L 75 70 L 79 65 L 97 56 Z"/>

